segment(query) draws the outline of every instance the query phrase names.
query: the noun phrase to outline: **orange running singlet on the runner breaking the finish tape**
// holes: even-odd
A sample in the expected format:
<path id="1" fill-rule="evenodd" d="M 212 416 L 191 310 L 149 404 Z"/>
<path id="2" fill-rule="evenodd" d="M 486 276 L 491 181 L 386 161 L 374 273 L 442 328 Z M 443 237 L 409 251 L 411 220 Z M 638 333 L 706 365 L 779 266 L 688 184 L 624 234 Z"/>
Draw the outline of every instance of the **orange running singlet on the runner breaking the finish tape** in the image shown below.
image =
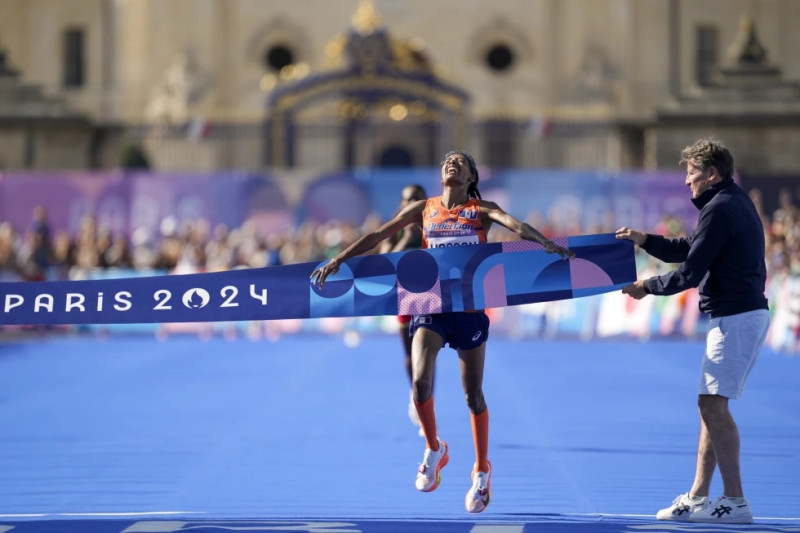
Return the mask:
<path id="1" fill-rule="evenodd" d="M 466 204 L 449 210 L 442 197 L 428 198 L 422 211 L 423 248 L 441 248 L 486 242 L 481 222 L 480 201 L 470 198 Z"/>

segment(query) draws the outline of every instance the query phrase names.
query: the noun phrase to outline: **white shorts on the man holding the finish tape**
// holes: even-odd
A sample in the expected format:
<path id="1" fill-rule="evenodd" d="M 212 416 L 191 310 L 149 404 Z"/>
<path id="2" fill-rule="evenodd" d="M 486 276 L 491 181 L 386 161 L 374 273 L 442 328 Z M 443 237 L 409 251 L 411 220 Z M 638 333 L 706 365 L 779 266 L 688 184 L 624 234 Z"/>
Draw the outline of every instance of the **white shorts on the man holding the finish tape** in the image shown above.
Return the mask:
<path id="1" fill-rule="evenodd" d="M 700 394 L 741 396 L 769 329 L 769 311 L 712 318 L 700 375 Z"/>

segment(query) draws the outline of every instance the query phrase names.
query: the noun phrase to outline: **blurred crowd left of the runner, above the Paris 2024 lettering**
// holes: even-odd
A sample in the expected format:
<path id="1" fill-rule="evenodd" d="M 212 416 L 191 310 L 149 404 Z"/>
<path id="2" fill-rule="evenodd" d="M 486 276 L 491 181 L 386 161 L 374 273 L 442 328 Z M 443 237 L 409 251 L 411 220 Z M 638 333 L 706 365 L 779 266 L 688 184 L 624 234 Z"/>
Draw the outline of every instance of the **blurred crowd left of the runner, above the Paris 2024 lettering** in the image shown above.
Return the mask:
<path id="1" fill-rule="evenodd" d="M 377 227 L 343 221 L 304 223 L 285 232 L 264 233 L 252 223 L 214 227 L 205 219 L 161 221 L 159 234 L 143 228 L 130 238 L 98 225 L 92 215 L 81 219 L 75 234 L 52 231 L 44 207 L 36 207 L 28 228 L 18 231 L 0 223 L 0 279 L 20 281 L 84 279 L 96 269 L 215 272 L 258 268 L 330 258 L 364 231 Z"/>

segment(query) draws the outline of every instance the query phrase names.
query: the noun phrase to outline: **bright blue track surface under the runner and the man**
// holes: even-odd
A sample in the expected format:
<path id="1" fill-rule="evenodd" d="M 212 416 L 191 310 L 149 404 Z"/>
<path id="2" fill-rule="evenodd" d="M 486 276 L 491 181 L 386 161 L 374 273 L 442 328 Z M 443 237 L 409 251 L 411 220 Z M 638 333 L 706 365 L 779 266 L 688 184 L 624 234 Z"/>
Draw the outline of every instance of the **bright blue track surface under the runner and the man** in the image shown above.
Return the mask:
<path id="1" fill-rule="evenodd" d="M 0 344 L 0 533 L 685 529 L 654 513 L 692 481 L 701 351 L 491 339 L 492 504 L 473 516 L 452 350 L 436 383 L 451 460 L 423 494 L 394 336 Z M 732 402 L 758 531 L 800 531 L 798 382 L 800 359 L 765 350 Z"/>

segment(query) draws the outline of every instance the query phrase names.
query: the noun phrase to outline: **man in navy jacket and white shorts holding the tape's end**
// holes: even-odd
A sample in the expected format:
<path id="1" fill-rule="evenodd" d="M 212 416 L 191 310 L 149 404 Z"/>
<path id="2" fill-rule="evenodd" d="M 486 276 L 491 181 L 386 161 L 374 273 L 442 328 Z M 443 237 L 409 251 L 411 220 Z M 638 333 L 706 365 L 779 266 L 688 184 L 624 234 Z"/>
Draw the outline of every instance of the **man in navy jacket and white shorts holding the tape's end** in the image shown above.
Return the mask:
<path id="1" fill-rule="evenodd" d="M 686 185 L 700 210 L 687 238 L 666 239 L 627 227 L 617 230 L 653 257 L 680 266 L 622 289 L 637 300 L 699 286 L 700 310 L 711 317 L 700 378 L 700 440 L 694 484 L 659 520 L 748 524 L 753 521 L 739 470 L 739 430 L 728 409 L 738 398 L 764 344 L 769 311 L 764 296 L 764 228 L 748 195 L 733 182 L 733 156 L 719 141 L 702 139 L 681 152 Z M 719 467 L 723 495 L 709 499 Z"/>

